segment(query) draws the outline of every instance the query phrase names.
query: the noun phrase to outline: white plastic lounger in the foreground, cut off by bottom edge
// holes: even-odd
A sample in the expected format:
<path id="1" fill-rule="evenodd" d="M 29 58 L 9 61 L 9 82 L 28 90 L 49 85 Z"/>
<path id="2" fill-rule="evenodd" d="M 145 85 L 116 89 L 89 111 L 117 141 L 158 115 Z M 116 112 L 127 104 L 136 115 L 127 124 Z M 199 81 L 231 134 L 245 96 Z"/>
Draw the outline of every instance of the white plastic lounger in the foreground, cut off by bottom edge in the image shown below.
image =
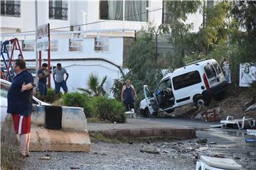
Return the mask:
<path id="1" fill-rule="evenodd" d="M 233 159 L 201 156 L 196 170 L 241 170 L 242 166 Z"/>

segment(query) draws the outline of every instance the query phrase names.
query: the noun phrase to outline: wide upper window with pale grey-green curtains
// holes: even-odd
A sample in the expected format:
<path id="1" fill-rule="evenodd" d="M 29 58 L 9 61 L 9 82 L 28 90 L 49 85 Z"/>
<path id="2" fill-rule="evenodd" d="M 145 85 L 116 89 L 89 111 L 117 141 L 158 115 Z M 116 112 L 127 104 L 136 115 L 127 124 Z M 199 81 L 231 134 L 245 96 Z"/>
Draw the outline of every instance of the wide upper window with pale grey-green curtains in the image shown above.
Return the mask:
<path id="1" fill-rule="evenodd" d="M 100 19 L 117 21 L 148 21 L 148 1 L 100 1 Z"/>

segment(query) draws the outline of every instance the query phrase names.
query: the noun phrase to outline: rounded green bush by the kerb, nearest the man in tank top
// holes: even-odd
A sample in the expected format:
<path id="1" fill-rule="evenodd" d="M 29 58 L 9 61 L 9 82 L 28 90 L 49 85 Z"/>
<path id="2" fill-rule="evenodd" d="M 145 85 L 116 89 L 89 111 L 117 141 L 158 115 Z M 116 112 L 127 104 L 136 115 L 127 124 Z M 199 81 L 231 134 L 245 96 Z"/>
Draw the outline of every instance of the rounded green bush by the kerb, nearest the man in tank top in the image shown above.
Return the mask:
<path id="1" fill-rule="evenodd" d="M 119 101 L 99 96 L 93 98 L 92 105 L 93 112 L 101 120 L 108 120 L 112 123 L 124 123 L 126 120 L 125 108 Z"/>

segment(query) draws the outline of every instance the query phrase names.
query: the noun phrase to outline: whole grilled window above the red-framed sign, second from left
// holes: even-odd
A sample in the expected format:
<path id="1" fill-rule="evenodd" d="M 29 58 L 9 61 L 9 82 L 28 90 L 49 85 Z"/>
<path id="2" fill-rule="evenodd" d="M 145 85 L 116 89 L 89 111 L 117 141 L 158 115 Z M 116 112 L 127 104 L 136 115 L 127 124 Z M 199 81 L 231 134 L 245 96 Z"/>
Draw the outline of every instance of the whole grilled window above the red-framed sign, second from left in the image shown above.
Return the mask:
<path id="1" fill-rule="evenodd" d="M 49 18 L 68 20 L 68 1 L 49 1 Z"/>

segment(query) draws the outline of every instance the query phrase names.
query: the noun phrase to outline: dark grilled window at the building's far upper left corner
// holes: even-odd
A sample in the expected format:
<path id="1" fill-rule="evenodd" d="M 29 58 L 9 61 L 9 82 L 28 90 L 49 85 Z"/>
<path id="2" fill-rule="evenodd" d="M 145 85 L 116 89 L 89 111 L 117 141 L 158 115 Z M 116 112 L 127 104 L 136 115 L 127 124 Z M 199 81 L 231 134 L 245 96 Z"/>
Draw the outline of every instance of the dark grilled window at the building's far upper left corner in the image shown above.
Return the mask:
<path id="1" fill-rule="evenodd" d="M 21 16 L 21 1 L 1 1 L 1 16 Z"/>

